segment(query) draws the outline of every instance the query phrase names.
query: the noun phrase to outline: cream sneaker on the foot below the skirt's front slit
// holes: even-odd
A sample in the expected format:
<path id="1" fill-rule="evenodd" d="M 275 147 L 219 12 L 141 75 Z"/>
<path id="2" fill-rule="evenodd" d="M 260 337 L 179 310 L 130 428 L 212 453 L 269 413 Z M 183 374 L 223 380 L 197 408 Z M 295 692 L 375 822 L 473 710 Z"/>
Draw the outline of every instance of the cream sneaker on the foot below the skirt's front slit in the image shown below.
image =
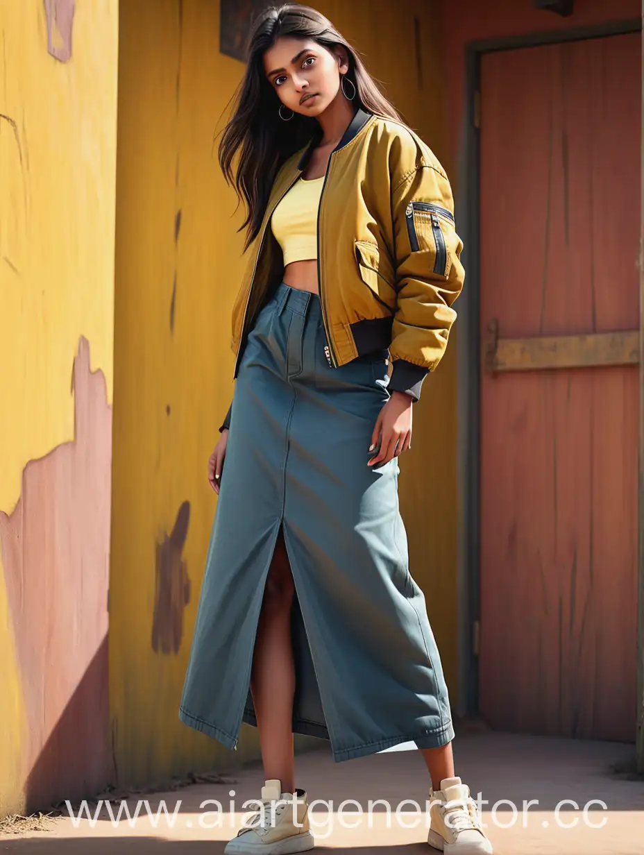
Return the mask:
<path id="1" fill-rule="evenodd" d="M 226 844 L 226 855 L 286 855 L 305 852 L 315 846 L 310 833 L 309 805 L 304 790 L 282 793 L 281 781 L 272 779 L 262 787 L 262 802 L 250 820 L 246 820 L 233 840 Z M 293 804 L 295 803 L 295 804 Z M 297 823 L 297 824 L 296 824 Z"/>

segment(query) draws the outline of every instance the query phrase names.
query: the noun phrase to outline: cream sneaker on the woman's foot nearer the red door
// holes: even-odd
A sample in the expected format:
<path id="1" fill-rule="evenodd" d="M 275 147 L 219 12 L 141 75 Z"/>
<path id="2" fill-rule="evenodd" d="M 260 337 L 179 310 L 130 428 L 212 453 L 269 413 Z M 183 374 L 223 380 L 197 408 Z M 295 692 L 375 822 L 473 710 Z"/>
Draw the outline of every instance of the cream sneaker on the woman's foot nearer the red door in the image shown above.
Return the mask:
<path id="1" fill-rule="evenodd" d="M 460 778 L 443 778 L 440 790 L 429 790 L 427 842 L 446 855 L 491 855 L 476 801 Z"/>

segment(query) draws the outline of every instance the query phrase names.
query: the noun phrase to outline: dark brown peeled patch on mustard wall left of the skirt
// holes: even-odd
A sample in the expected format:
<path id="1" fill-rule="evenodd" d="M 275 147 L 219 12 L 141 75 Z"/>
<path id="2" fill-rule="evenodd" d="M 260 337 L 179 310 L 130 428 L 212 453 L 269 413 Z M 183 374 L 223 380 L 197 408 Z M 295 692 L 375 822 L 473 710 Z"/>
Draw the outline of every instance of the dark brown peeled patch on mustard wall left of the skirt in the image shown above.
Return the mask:
<path id="1" fill-rule="evenodd" d="M 183 612 L 190 602 L 190 579 L 181 553 L 186 545 L 190 503 L 177 512 L 172 534 L 157 543 L 156 592 L 152 621 L 152 650 L 178 653 L 183 637 Z"/>

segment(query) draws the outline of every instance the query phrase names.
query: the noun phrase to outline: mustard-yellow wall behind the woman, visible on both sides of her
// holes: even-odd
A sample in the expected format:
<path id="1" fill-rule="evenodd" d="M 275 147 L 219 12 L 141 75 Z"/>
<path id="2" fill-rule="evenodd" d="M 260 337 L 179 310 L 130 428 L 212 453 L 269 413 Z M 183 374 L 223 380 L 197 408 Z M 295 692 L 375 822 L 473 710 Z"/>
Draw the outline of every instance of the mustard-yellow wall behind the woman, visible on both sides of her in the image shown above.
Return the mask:
<path id="1" fill-rule="evenodd" d="M 433 3 L 325 0 L 317 8 L 363 52 L 406 120 L 441 156 Z M 216 506 L 206 463 L 233 391 L 229 319 L 243 269 L 243 237 L 235 231 L 241 212 L 233 215 L 235 198 L 213 144 L 243 65 L 222 56 L 218 45 L 216 0 L 121 3 L 109 635 L 121 782 L 161 780 L 233 760 L 233 752 L 178 720 Z M 452 692 L 455 351 L 452 342 L 440 371 L 426 382 L 401 477 L 412 572 L 428 593 Z M 440 504 L 429 499 L 437 480 Z M 175 625 L 183 615 L 180 651 L 159 653 L 152 645 L 157 545 L 167 545 L 185 502 L 187 534 L 174 566 L 185 563 L 192 593 L 185 611 L 178 604 L 174 612 Z M 257 756 L 257 732 L 244 726 L 234 759 L 250 756 Z"/>

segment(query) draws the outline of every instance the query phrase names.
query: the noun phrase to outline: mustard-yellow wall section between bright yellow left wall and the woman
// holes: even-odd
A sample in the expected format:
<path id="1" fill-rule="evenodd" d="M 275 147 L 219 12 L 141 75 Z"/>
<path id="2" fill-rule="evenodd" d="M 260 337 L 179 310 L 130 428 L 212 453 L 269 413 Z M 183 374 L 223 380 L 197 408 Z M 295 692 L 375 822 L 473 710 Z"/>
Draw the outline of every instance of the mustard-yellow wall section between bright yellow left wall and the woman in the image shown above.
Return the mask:
<path id="1" fill-rule="evenodd" d="M 228 753 L 178 718 L 215 508 L 206 464 L 232 388 L 226 319 L 242 251 L 212 151 L 239 79 L 239 62 L 219 55 L 218 39 L 210 0 L 185 0 L 181 16 L 177 0 L 121 3 L 109 593 L 121 782 L 225 764 Z M 157 543 L 185 501 L 191 601 L 180 654 L 158 654 Z"/>

